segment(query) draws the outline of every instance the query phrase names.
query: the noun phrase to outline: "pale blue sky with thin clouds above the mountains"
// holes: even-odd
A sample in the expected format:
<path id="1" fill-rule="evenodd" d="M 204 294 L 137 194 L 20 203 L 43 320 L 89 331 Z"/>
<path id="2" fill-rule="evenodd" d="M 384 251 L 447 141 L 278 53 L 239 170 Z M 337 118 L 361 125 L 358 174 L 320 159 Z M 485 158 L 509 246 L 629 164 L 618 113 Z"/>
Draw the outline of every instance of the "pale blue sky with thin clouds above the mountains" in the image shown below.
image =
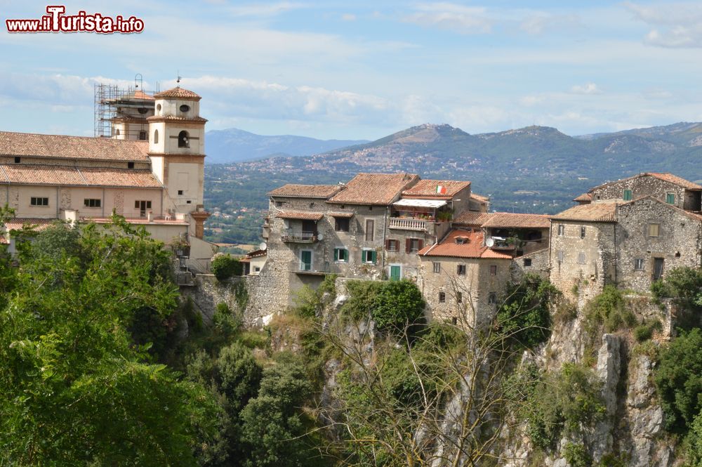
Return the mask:
<path id="1" fill-rule="evenodd" d="M 72 1 L 144 31 L 7 32 L 46 6 L 0 0 L 0 130 L 92 136 L 93 85 L 138 73 L 147 91 L 182 77 L 208 130 L 263 135 L 702 121 L 700 1 Z"/>

